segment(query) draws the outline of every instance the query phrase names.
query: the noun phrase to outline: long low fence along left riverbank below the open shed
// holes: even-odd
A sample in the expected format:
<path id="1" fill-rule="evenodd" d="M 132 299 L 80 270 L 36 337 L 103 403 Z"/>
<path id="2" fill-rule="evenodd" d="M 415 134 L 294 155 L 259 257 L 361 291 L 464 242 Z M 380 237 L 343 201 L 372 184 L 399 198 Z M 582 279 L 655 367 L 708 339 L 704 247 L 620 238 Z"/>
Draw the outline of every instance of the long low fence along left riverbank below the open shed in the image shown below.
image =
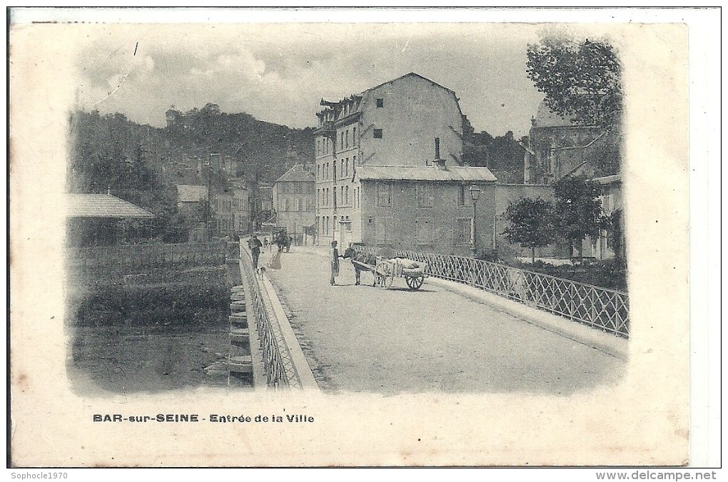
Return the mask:
<path id="1" fill-rule="evenodd" d="M 224 265 L 226 244 L 129 244 L 66 249 L 69 268 L 83 271 L 138 273 L 159 268 Z"/>

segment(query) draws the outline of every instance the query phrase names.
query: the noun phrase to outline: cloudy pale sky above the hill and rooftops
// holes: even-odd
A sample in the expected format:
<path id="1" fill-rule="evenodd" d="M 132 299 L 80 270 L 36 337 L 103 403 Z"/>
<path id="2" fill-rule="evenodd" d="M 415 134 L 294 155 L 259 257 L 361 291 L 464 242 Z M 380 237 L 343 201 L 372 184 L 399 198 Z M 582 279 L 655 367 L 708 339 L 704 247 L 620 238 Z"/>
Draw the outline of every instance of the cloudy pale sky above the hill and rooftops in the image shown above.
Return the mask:
<path id="1" fill-rule="evenodd" d="M 543 96 L 526 76 L 537 27 L 486 23 L 87 25 L 76 105 L 165 125 L 218 104 L 263 121 L 317 124 L 320 100 L 415 72 L 456 92 L 476 131 L 528 134 Z"/>

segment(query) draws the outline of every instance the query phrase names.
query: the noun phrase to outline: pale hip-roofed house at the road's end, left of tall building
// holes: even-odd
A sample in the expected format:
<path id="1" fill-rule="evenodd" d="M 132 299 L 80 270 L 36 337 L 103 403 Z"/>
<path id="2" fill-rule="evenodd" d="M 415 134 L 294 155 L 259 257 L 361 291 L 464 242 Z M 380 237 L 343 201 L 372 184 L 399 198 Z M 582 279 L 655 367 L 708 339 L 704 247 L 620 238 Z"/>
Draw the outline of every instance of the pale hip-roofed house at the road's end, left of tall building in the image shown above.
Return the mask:
<path id="1" fill-rule="evenodd" d="M 316 177 L 310 166 L 296 164 L 273 184 L 275 223 L 297 244 L 312 233 L 316 218 Z"/>

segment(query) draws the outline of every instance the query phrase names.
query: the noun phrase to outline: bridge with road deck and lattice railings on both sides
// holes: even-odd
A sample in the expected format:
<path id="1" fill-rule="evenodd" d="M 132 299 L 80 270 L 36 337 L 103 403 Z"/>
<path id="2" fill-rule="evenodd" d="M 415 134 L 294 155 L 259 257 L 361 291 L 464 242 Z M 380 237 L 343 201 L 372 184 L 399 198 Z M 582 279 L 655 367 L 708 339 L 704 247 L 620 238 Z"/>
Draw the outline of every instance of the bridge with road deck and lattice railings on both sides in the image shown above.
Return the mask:
<path id="1" fill-rule="evenodd" d="M 272 255 L 264 251 L 259 265 Z M 452 257 L 424 260 L 436 276 L 419 290 L 403 278 L 371 286 L 371 273 L 357 286 L 347 260 L 331 286 L 319 246 L 293 246 L 280 261 L 280 270 L 253 273 L 241 250 L 256 385 L 569 395 L 612 385 L 625 371 L 624 294 Z M 464 274 L 466 283 L 454 281 Z M 553 285 L 558 301 L 534 300 L 534 282 Z"/>

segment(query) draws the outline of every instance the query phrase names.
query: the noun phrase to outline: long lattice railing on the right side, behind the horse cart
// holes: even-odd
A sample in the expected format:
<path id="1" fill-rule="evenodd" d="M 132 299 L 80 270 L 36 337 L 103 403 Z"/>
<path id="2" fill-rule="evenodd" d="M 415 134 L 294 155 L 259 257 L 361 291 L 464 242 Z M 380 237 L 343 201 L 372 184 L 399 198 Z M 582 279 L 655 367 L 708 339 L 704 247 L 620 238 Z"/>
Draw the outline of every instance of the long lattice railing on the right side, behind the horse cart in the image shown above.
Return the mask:
<path id="1" fill-rule="evenodd" d="M 371 246 L 356 249 L 376 254 Z M 476 286 L 603 332 L 629 337 L 627 293 L 467 257 L 407 250 L 397 250 L 395 255 L 426 262 L 430 276 Z"/>

